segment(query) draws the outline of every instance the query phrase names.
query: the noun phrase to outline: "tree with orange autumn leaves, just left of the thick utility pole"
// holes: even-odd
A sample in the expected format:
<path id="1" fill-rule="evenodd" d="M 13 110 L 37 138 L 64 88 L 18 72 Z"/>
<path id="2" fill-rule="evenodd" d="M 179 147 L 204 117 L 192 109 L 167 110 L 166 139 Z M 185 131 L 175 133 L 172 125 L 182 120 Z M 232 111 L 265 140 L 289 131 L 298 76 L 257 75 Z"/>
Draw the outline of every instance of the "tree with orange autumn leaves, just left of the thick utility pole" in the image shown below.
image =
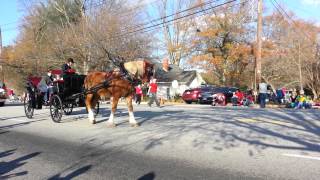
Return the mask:
<path id="1" fill-rule="evenodd" d="M 220 85 L 240 85 L 240 77 L 252 59 L 246 8 L 226 6 L 214 11 L 198 33 L 199 54 L 192 63 L 212 72 Z"/>

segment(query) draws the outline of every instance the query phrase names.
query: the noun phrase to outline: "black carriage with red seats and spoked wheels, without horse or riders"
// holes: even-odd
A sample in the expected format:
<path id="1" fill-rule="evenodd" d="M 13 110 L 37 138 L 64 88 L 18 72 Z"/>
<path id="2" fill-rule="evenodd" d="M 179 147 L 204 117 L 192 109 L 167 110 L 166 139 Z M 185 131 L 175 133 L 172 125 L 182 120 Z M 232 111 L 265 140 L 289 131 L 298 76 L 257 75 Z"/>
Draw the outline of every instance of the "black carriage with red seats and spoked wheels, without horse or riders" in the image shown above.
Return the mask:
<path id="1" fill-rule="evenodd" d="M 53 76 L 61 76 L 61 70 L 52 70 Z M 24 97 L 24 110 L 28 118 L 32 118 L 35 109 L 50 106 L 50 115 L 54 122 L 60 122 L 62 115 L 70 115 L 74 107 L 85 107 L 87 91 L 84 89 L 85 75 L 75 73 L 63 75 L 63 79 L 55 79 L 50 86 L 50 93 L 39 90 L 39 83 L 43 77 L 34 76 L 27 79 Z M 49 103 L 44 101 L 48 95 Z M 95 114 L 99 113 L 99 103 L 94 108 Z"/>

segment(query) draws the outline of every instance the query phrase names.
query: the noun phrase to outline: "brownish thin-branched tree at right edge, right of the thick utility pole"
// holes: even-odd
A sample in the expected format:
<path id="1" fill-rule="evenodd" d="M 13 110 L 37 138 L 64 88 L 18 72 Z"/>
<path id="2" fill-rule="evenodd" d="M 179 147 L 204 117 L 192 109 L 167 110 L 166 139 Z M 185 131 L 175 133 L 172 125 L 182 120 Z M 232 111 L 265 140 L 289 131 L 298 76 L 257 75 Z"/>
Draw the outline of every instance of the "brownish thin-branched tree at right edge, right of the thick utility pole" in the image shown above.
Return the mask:
<path id="1" fill-rule="evenodd" d="M 306 87 L 318 97 L 317 44 L 319 27 L 313 23 L 290 19 L 279 12 L 265 18 L 262 76 L 274 89 Z"/>

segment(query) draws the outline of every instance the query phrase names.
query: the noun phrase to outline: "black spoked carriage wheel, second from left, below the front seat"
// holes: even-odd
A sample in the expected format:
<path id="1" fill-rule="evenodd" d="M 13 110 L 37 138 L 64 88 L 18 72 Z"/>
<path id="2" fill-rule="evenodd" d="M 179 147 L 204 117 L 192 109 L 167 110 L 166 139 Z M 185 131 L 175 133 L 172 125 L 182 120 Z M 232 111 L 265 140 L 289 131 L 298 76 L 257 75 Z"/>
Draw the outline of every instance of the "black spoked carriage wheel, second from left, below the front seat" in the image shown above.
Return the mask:
<path id="1" fill-rule="evenodd" d="M 63 105 L 61 98 L 58 95 L 53 95 L 50 102 L 51 119 L 59 123 L 63 114 Z"/>

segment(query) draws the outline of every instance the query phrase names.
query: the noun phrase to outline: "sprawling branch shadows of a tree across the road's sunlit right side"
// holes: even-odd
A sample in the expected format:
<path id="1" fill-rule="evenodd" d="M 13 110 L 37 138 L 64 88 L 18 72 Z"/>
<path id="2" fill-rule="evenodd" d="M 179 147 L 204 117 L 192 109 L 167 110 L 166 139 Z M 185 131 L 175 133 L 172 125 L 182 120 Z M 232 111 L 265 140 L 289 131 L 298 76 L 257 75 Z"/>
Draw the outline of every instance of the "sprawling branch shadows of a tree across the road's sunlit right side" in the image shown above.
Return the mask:
<path id="1" fill-rule="evenodd" d="M 143 134 L 137 142 L 143 142 L 145 150 L 166 142 L 185 141 L 188 136 L 190 145 L 196 149 L 222 151 L 245 142 L 250 146 L 250 156 L 267 148 L 320 152 L 319 112 L 313 110 L 166 109 L 136 111 L 135 116 L 143 125 L 142 130 L 128 133 L 126 137 Z M 196 136 L 190 138 L 190 134 Z"/>

